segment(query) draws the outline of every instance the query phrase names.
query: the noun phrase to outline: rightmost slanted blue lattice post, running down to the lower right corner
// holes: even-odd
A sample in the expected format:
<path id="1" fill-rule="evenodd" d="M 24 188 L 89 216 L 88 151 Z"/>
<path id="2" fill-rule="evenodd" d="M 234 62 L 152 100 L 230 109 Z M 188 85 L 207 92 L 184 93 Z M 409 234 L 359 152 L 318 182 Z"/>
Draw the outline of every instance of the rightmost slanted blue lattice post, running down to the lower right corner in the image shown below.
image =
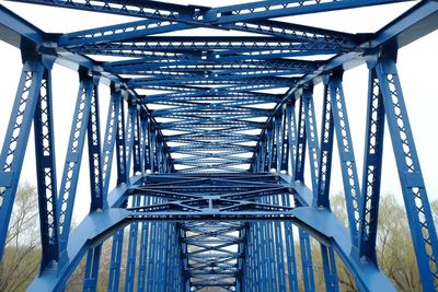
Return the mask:
<path id="1" fill-rule="evenodd" d="M 403 199 L 424 291 L 437 290 L 438 240 L 404 104 L 395 56 L 381 58 L 376 71 L 383 96 Z"/>

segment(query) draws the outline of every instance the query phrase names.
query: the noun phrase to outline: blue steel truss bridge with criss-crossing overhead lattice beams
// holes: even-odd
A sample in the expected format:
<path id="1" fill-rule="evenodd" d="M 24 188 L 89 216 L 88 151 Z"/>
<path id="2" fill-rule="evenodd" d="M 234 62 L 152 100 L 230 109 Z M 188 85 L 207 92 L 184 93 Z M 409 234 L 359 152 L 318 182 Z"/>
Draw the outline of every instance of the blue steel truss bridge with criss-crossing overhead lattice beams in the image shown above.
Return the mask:
<path id="1" fill-rule="evenodd" d="M 301 281 L 314 291 L 310 237 L 320 243 L 326 291 L 339 291 L 335 257 L 359 291 L 393 291 L 376 254 L 384 124 L 423 290 L 437 290 L 437 234 L 396 66 L 400 48 L 438 27 L 437 1 L 413 1 L 366 34 L 286 16 L 342 17 L 346 9 L 404 1 L 12 2 L 135 17 L 60 34 L 0 5 L 0 38 L 23 61 L 0 154 L 0 256 L 24 154 L 36 153 L 42 259 L 28 291 L 62 291 L 81 260 L 84 291 L 96 290 L 102 269 L 110 271 L 108 291 L 298 291 Z M 67 152 L 56 150 L 67 153 L 60 177 L 54 127 L 66 125 L 54 120 L 55 62 L 79 74 Z M 368 108 L 358 177 L 343 73 L 364 63 Z M 108 96 L 99 94 L 102 82 Z M 324 89 L 320 127 L 316 84 Z M 35 149 L 27 148 L 32 127 Z M 332 166 L 334 152 L 339 165 Z M 81 170 L 83 160 L 89 170 Z M 341 168 L 347 225 L 330 208 L 332 167 Z M 90 213 L 70 231 L 81 175 L 90 176 Z"/>

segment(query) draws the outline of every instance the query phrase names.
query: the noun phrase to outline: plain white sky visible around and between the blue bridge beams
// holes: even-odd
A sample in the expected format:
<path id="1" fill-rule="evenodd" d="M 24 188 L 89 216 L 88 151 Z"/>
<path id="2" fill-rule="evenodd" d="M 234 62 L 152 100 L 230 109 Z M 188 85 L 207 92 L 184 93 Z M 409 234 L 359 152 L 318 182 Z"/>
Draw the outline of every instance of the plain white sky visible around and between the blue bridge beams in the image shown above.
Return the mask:
<path id="1" fill-rule="evenodd" d="M 79 12 L 72 10 L 60 10 L 46 7 L 35 7 L 18 3 L 5 3 L 8 8 L 13 9 L 23 17 L 30 20 L 46 32 L 72 32 L 78 30 L 91 28 L 93 26 L 108 25 L 129 21 L 129 17 L 119 17 L 115 15 L 94 14 L 90 12 Z M 194 2 L 194 1 L 192 1 Z M 222 5 L 227 1 L 198 1 L 201 4 Z M 200 3 L 199 3 L 200 4 Z M 400 15 L 407 8 L 413 5 L 402 3 L 395 5 L 385 5 L 367 8 L 357 11 L 344 11 L 342 17 L 337 13 L 323 13 L 321 15 L 302 15 L 288 17 L 287 21 L 293 21 L 301 24 L 314 25 L 332 30 L 343 30 L 347 27 L 349 32 L 374 32 L 384 23 Z M 87 20 L 87 21 L 84 21 Z M 285 19 L 281 19 L 285 20 Z M 371 21 L 372 20 L 372 21 Z M 207 34 L 208 31 L 204 31 Z M 192 32 L 193 33 L 193 32 Z M 199 31 L 197 32 L 199 33 Z M 178 35 L 186 33 L 178 32 Z M 218 33 L 219 34 L 219 33 Z M 223 34 L 221 32 L 220 34 Z M 233 34 L 234 35 L 234 34 Z M 237 35 L 237 34 L 235 34 Z M 399 73 L 405 95 L 405 102 L 411 118 L 418 156 L 422 163 L 423 174 L 429 197 L 438 198 L 438 137 L 436 127 L 438 126 L 438 32 L 435 32 L 410 46 L 402 48 L 399 52 Z M 8 44 L 0 42 L 0 141 L 3 143 L 3 137 L 9 120 L 10 109 L 21 71 L 20 51 Z M 368 72 L 365 66 L 347 71 L 344 77 L 344 90 L 350 128 L 353 133 L 356 162 L 358 166 L 359 178 L 362 173 L 364 156 L 364 137 L 365 137 L 365 117 L 367 98 L 367 77 Z M 55 137 L 57 154 L 57 174 L 58 185 L 61 180 L 61 172 L 67 150 L 73 106 L 78 90 L 78 75 L 70 69 L 55 66 L 54 71 L 54 107 L 55 107 Z M 106 108 L 108 104 L 110 90 L 107 86 L 101 86 L 101 131 L 104 132 L 106 121 Z M 315 87 L 315 106 L 318 125 L 321 126 L 321 103 L 322 86 Z M 395 194 L 401 200 L 401 189 L 396 173 L 396 166 L 391 149 L 388 129 L 385 131 L 385 152 L 383 160 L 382 192 Z M 21 179 L 30 180 L 36 184 L 35 157 L 33 150 L 33 133 L 31 133 L 28 151 L 25 156 Z M 89 210 L 90 192 L 85 153 L 82 160 L 82 170 L 77 194 L 77 203 L 74 210 L 76 220 L 83 218 Z M 337 149 L 335 149 L 335 153 Z M 309 167 L 307 166 L 309 170 Z M 115 172 L 113 172 L 115 174 Z M 113 175 L 113 178 L 115 175 Z M 361 179 L 360 179 L 361 180 Z M 310 185 L 310 176 L 307 176 Z M 111 187 L 114 187 L 112 184 Z M 341 167 L 338 157 L 335 154 L 333 162 L 332 194 L 342 190 Z"/>

